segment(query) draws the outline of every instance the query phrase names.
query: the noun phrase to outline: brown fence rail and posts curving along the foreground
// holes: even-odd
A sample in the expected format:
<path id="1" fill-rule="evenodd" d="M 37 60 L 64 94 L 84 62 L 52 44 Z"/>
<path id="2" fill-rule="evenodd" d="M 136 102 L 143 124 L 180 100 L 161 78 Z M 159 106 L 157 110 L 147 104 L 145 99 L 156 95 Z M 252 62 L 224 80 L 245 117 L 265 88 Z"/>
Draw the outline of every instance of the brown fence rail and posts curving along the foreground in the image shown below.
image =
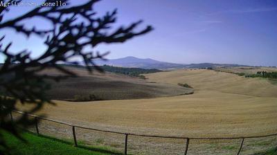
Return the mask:
<path id="1" fill-rule="evenodd" d="M 24 114 L 24 112 L 22 111 L 13 111 L 15 113 L 21 113 Z M 157 136 L 157 135 L 145 135 L 145 134 L 133 134 L 133 133 L 124 133 L 124 132 L 118 132 L 118 131 L 109 131 L 109 130 L 102 130 L 102 129 L 94 129 L 91 127 L 82 127 L 79 125 L 73 125 L 71 123 L 68 122 L 62 122 L 60 120 L 53 120 L 51 118 L 43 118 L 40 116 L 35 116 L 32 114 L 28 114 L 28 116 L 31 116 L 33 118 L 35 118 L 36 120 L 48 120 L 50 122 L 55 122 L 61 125 L 67 125 L 69 127 L 71 127 L 72 130 L 72 137 L 73 137 L 73 141 L 74 141 L 74 146 L 77 147 L 78 146 L 78 139 L 76 136 L 76 128 L 78 129 L 87 129 L 87 130 L 92 130 L 92 131 L 100 131 L 100 132 L 105 132 L 105 133 L 110 133 L 110 134 L 119 134 L 124 136 L 124 154 L 128 153 L 128 142 L 130 142 L 128 140 L 128 136 L 139 136 L 139 137 L 145 137 L 145 138 L 168 138 L 168 139 L 183 139 L 184 140 L 184 149 L 182 151 L 180 151 L 181 153 L 177 153 L 177 154 L 188 154 L 188 149 L 189 149 L 189 145 L 190 145 L 190 140 L 240 140 L 240 145 L 239 145 L 239 149 L 234 153 L 239 155 L 242 152 L 242 148 L 244 146 L 244 141 L 247 139 L 251 139 L 251 138 L 266 138 L 266 137 L 271 137 L 271 136 L 277 136 L 277 134 L 267 134 L 267 135 L 263 135 L 263 136 L 238 136 L 238 137 L 206 137 L 206 138 L 198 138 L 198 137 L 184 137 L 184 136 Z M 11 120 L 15 119 L 14 116 L 12 116 L 12 113 L 10 113 L 10 118 Z M 35 124 L 35 131 L 36 133 L 39 135 L 39 125 L 38 125 L 39 121 L 36 121 Z M 274 139 L 276 140 L 276 138 Z M 151 144 L 150 144 L 151 145 Z M 277 144 L 276 144 L 277 146 Z M 167 154 L 170 154 L 167 153 Z"/>

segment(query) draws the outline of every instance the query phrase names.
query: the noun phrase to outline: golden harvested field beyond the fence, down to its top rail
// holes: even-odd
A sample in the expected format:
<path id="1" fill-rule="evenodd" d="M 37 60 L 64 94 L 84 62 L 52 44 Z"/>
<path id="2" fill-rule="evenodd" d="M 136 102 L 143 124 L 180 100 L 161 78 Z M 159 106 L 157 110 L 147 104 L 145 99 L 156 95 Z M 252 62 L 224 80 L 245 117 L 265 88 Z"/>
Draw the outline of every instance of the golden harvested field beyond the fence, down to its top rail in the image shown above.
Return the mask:
<path id="1" fill-rule="evenodd" d="M 193 86 L 192 95 L 55 101 L 39 113 L 76 125 L 136 134 L 190 137 L 258 136 L 277 132 L 277 85 L 209 70 L 145 74 L 149 82 Z"/>

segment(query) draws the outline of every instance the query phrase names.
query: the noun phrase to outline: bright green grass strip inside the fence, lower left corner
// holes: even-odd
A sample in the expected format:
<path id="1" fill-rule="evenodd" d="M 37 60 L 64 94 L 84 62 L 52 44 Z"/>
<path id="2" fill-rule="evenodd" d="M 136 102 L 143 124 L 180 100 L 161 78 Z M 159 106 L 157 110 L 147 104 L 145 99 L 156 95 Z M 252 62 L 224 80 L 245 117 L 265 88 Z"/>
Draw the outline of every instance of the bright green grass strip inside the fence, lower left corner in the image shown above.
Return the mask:
<path id="1" fill-rule="evenodd" d="M 28 154 L 28 155 L 51 155 L 51 154 L 90 154 L 90 155 L 104 155 L 104 154 L 118 154 L 111 152 L 104 147 L 73 147 L 73 143 L 46 136 L 36 136 L 31 133 L 24 133 L 23 137 L 28 141 L 24 143 L 10 134 L 4 134 L 8 146 L 11 147 L 11 155 Z"/>

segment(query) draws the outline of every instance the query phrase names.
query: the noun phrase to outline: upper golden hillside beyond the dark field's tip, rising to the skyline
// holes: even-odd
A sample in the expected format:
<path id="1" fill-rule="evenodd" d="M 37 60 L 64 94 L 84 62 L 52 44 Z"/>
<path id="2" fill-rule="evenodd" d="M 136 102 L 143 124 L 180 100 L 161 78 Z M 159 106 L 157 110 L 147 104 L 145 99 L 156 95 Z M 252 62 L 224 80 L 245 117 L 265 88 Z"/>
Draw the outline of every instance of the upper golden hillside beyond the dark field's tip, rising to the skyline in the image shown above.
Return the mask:
<path id="1" fill-rule="evenodd" d="M 145 74 L 145 76 L 150 80 L 167 84 L 186 82 L 193 86 L 196 91 L 219 91 L 258 97 L 277 97 L 277 85 L 271 84 L 268 80 L 244 78 L 232 73 L 201 69 L 151 73 Z"/>

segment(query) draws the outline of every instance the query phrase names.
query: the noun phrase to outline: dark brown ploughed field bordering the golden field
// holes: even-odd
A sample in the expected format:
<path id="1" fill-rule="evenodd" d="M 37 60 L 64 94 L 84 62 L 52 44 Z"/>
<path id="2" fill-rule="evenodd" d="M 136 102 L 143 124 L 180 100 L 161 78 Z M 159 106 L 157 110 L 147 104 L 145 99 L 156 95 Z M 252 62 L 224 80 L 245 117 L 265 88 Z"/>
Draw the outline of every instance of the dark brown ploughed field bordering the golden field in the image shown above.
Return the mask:
<path id="1" fill-rule="evenodd" d="M 184 88 L 177 84 L 157 84 L 145 82 L 143 79 L 131 78 L 116 73 L 98 73 L 93 75 L 84 69 L 68 67 L 78 78 L 68 78 L 59 83 L 52 82 L 53 86 L 47 95 L 53 100 L 120 100 L 138 98 L 157 98 L 171 95 L 193 93 L 193 89 Z M 57 75 L 54 69 L 44 71 L 47 75 Z M 93 98 L 89 98 L 93 95 Z"/>

